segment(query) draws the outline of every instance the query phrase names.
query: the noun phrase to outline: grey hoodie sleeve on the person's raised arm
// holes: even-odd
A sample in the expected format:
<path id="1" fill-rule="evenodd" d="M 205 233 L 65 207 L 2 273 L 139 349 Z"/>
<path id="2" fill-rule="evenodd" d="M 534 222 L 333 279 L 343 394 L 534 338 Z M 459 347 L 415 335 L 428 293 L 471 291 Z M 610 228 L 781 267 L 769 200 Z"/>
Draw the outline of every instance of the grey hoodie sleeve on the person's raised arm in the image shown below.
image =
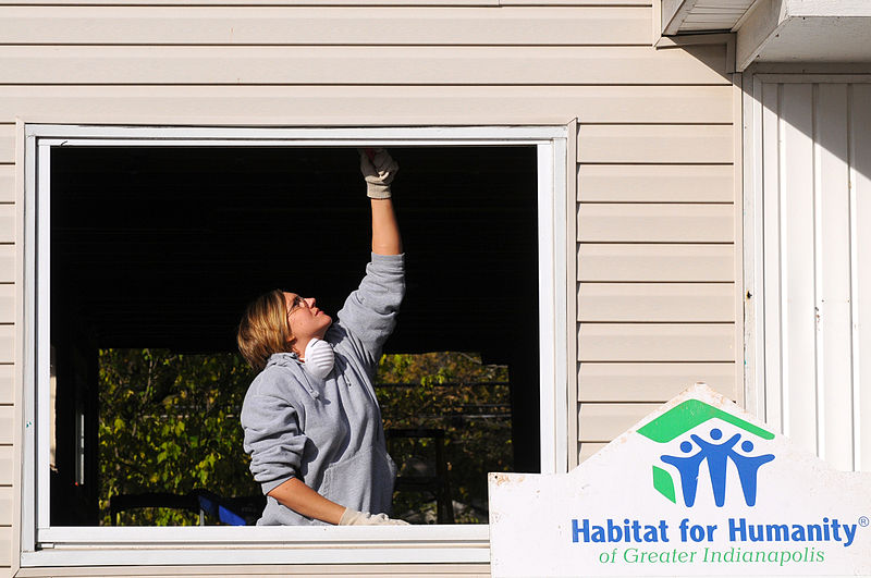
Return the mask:
<path id="1" fill-rule="evenodd" d="M 361 342 L 370 364 L 378 362 L 404 296 L 405 255 L 373 253 L 359 288 L 347 297 L 338 316 L 339 323 Z"/>

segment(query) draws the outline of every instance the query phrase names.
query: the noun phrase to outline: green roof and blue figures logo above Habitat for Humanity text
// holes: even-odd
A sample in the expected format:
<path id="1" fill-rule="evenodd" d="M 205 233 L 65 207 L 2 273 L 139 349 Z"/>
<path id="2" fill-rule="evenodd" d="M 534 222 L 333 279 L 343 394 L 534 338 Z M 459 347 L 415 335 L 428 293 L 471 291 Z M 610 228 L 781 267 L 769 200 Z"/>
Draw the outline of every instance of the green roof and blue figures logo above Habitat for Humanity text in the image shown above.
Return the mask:
<path id="1" fill-rule="evenodd" d="M 639 428 L 638 433 L 657 443 L 668 443 L 714 418 L 732 423 L 743 431 L 725 441 L 721 441 L 723 431 L 717 427 L 712 427 L 708 431 L 709 439 L 692 433 L 680 442 L 682 455 L 665 454 L 660 456 L 660 459 L 677 469 L 684 505 L 687 507 L 692 507 L 696 503 L 702 463 L 708 466 L 714 503 L 717 507 L 723 507 L 726 501 L 726 474 L 729 463 L 738 471 L 745 503 L 755 506 L 759 468 L 773 460 L 774 455 L 755 455 L 752 438 L 773 440 L 772 432 L 712 405 L 698 399 L 688 399 Z M 738 442 L 741 442 L 740 445 Z M 653 466 L 653 488 L 671 502 L 677 503 L 674 479 L 666 469 Z"/>

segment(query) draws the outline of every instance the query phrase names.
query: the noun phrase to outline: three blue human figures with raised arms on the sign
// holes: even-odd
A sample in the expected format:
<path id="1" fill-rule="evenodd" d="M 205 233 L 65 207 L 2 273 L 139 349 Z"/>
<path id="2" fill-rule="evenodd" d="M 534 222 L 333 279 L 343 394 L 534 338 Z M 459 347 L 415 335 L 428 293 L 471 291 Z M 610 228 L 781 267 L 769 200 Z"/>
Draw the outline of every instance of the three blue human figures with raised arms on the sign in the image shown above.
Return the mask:
<path id="1" fill-rule="evenodd" d="M 711 439 L 716 441 L 723 438 L 723 432 L 719 428 L 710 431 Z M 660 456 L 661 459 L 675 466 L 680 475 L 680 489 L 684 494 L 684 503 L 687 507 L 696 503 L 696 493 L 699 483 L 699 468 L 702 462 L 708 462 L 708 472 L 711 478 L 711 489 L 713 490 L 714 504 L 723 507 L 726 503 L 726 472 L 731 460 L 738 470 L 738 479 L 744 492 L 744 500 L 748 506 L 756 505 L 757 476 L 759 468 L 774 459 L 773 454 L 760 456 L 748 456 L 735 451 L 735 444 L 740 440 L 741 434 L 736 433 L 722 443 L 712 443 L 690 434 L 690 439 L 699 446 L 699 451 L 691 456 Z M 749 453 L 753 450 L 753 443 L 745 440 L 741 450 Z M 688 454 L 692 451 L 692 444 L 688 441 L 680 443 L 680 451 Z"/>

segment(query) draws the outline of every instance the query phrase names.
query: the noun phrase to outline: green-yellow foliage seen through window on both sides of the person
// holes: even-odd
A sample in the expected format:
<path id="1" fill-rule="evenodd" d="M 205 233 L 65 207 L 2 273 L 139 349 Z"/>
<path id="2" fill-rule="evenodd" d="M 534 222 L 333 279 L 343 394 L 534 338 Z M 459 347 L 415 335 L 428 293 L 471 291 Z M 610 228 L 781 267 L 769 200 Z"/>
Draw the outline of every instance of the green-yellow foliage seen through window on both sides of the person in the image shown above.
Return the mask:
<path id="1" fill-rule="evenodd" d="M 222 496 L 259 494 L 243 452 L 238 414 L 254 378 L 237 355 L 182 355 L 165 349 L 99 352 L 99 467 L 102 524 L 120 494 Z M 511 469 L 507 368 L 463 353 L 385 355 L 377 390 L 387 429 L 445 432 L 456 521 L 487 521 L 487 472 Z M 434 467 L 432 440 L 394 439 L 401 474 Z M 394 513 L 434 520 L 426 492 L 398 492 Z M 121 524 L 198 524 L 193 513 L 148 508 L 121 515 Z"/>

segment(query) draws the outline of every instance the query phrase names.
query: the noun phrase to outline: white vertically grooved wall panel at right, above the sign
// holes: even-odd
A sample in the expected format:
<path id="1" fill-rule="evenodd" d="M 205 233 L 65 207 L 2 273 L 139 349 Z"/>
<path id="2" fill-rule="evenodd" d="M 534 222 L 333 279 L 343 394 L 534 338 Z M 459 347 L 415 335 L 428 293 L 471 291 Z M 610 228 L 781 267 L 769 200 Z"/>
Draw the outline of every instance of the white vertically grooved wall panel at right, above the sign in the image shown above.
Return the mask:
<path id="1" fill-rule="evenodd" d="M 871 278 L 861 251 L 871 245 L 859 188 L 871 133 L 854 93 L 871 94 L 871 75 L 745 78 L 748 398 L 833 467 L 867 469 L 859 340 L 861 279 Z"/>

